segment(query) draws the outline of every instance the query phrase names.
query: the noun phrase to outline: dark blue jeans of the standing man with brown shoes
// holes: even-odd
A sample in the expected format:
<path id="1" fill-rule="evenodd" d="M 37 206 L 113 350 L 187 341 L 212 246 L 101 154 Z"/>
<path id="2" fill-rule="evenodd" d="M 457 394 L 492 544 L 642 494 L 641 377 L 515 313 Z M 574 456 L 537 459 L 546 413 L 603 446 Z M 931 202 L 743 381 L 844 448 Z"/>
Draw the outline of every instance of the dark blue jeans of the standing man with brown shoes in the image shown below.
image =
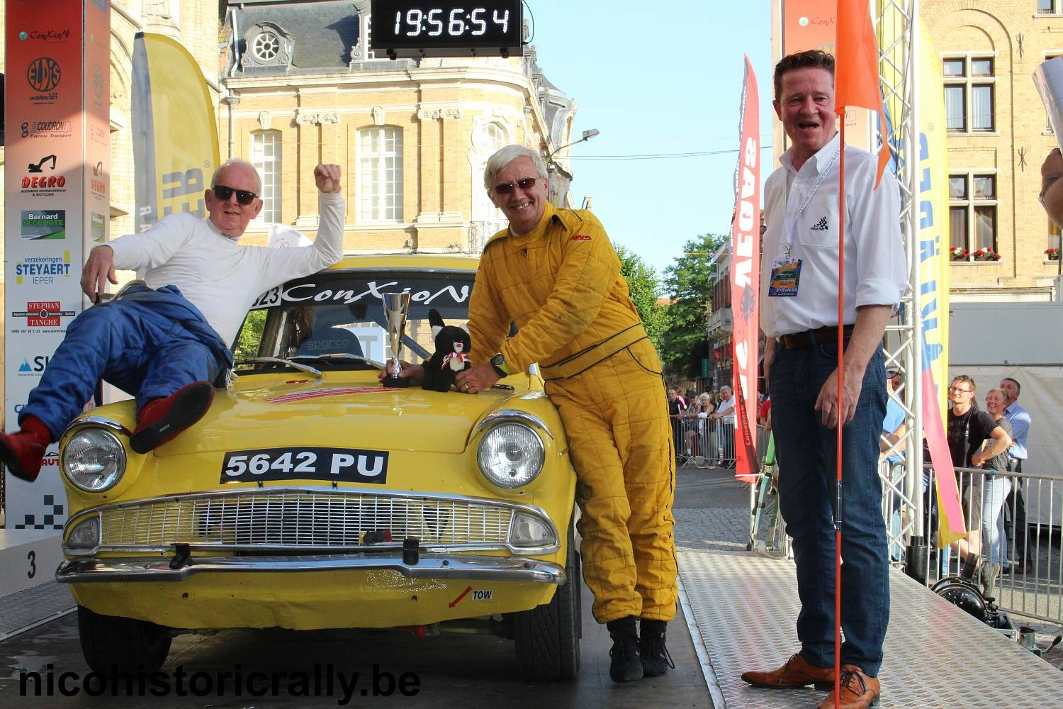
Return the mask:
<path id="1" fill-rule="evenodd" d="M 797 565 L 797 639 L 816 666 L 834 663 L 836 429 L 820 422 L 815 400 L 838 368 L 838 345 L 784 350 L 771 369 L 772 429 L 779 462 L 779 504 Z M 890 621 L 889 557 L 878 477 L 878 439 L 885 416 L 881 347 L 864 371 L 856 416 L 843 429 L 843 664 L 878 675 Z"/>

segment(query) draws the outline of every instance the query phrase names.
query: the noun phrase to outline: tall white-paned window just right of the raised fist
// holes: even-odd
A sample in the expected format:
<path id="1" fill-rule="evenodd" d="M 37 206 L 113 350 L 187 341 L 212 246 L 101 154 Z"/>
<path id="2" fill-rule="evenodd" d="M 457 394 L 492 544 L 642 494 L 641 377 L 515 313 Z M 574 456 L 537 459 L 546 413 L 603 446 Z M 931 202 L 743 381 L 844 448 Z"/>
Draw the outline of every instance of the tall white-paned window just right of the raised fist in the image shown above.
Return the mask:
<path id="1" fill-rule="evenodd" d="M 402 129 L 358 131 L 358 221 L 402 221 Z"/>

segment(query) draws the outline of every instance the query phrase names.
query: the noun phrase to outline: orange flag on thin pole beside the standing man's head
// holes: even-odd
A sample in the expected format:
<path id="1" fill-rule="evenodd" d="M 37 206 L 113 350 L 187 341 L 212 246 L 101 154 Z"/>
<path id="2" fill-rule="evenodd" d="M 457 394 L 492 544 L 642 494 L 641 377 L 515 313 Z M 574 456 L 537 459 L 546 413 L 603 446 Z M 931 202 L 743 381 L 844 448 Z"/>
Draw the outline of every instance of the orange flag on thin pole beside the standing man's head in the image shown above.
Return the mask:
<path id="1" fill-rule="evenodd" d="M 861 106 L 878 112 L 879 131 L 883 136 L 878 152 L 878 173 L 890 162 L 889 135 L 882 92 L 878 80 L 878 45 L 871 23 L 867 0 L 838 0 L 838 36 L 834 45 L 834 112 L 845 119 L 845 106 Z"/>

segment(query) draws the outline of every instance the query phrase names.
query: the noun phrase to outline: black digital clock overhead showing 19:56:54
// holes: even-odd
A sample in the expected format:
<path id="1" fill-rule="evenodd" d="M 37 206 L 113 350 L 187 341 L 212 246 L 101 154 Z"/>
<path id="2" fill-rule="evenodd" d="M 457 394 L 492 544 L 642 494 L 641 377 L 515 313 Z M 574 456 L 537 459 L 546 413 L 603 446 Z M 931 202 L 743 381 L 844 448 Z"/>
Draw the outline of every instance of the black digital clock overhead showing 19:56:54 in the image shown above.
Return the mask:
<path id="1" fill-rule="evenodd" d="M 523 45 L 521 0 L 372 0 L 377 56 L 508 56 Z"/>

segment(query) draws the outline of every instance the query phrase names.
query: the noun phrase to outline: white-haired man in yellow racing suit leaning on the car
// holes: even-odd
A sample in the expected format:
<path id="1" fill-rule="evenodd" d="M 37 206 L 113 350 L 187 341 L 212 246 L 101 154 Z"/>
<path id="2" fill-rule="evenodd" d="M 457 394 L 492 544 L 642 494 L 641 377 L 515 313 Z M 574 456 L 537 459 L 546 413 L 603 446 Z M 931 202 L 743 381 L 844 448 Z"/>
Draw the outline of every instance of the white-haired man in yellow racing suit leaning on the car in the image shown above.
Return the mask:
<path id="1" fill-rule="evenodd" d="M 660 360 L 605 230 L 590 212 L 546 201 L 538 152 L 502 148 L 487 162 L 484 186 L 509 227 L 484 247 L 469 308 L 480 361 L 455 385 L 476 393 L 540 364 L 578 476 L 584 579 L 594 618 L 612 637 L 609 675 L 623 682 L 663 674 L 676 604 L 675 452 Z M 518 332 L 506 339 L 510 322 Z M 414 381 L 422 373 L 403 370 Z"/>

